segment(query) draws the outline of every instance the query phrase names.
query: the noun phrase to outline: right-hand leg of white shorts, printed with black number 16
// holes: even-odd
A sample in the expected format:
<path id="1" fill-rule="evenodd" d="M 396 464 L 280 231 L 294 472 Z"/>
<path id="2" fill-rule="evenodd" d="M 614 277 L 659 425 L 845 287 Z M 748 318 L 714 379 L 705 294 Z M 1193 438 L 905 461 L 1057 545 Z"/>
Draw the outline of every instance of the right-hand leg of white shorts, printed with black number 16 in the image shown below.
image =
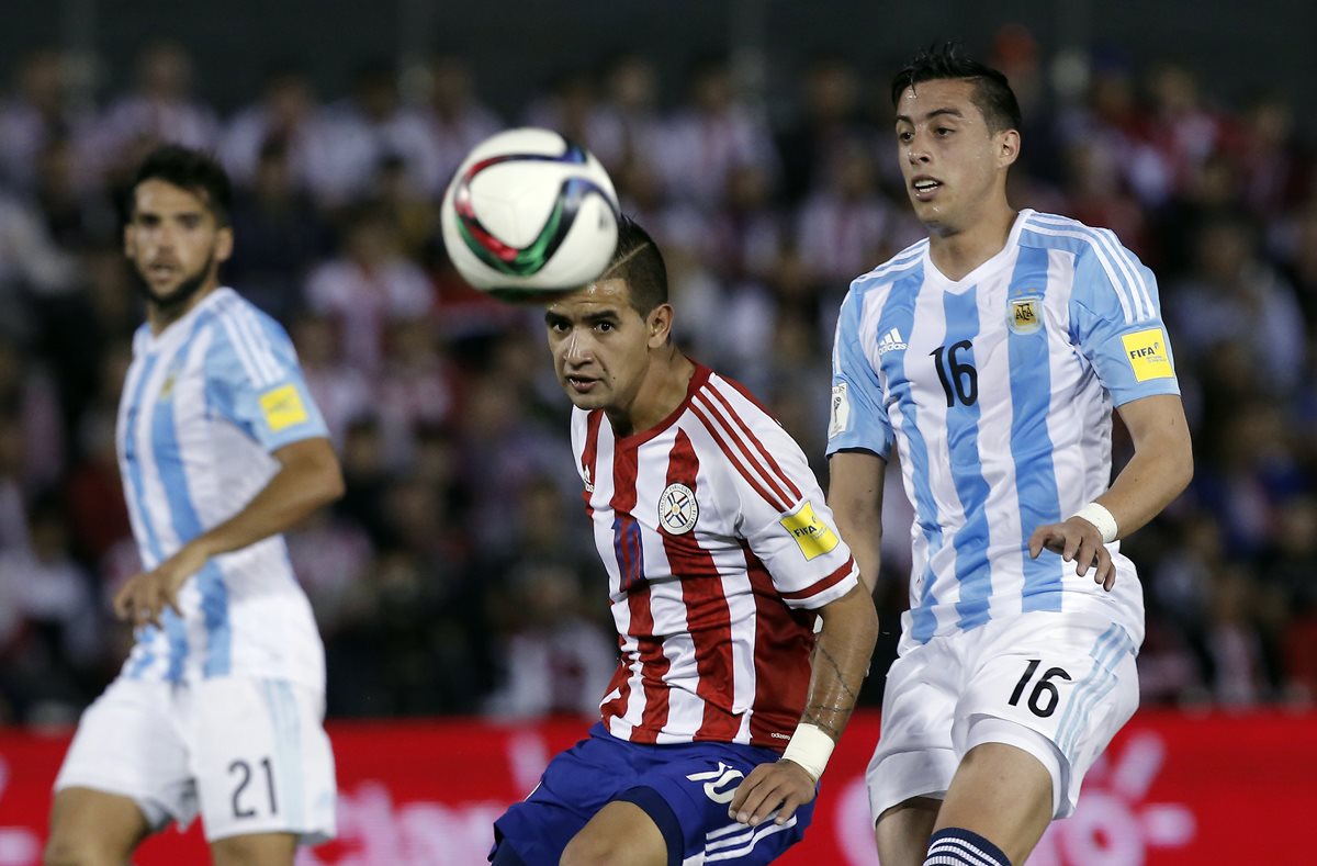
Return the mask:
<path id="1" fill-rule="evenodd" d="M 1087 615 L 1030 613 L 986 637 L 956 705 L 956 751 L 997 742 L 1029 753 L 1051 779 L 1052 813 L 1064 817 L 1138 707 L 1135 648 L 1119 625 Z"/>

